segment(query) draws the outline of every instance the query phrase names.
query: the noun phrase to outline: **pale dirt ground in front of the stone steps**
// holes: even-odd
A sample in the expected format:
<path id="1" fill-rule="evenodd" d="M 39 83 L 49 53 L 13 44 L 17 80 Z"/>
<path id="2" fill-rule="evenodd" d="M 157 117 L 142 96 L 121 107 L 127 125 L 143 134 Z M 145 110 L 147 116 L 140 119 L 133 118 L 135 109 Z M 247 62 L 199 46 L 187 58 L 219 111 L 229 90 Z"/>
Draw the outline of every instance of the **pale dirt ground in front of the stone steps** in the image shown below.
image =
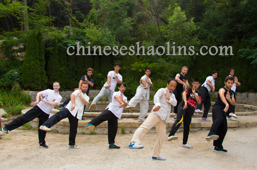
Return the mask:
<path id="1" fill-rule="evenodd" d="M 205 140 L 208 131 L 191 132 L 189 144 L 181 147 L 178 140 L 165 141 L 161 156 L 166 161 L 153 161 L 157 134 L 146 134 L 142 150 L 131 150 L 128 143 L 133 134 L 118 134 L 120 150 L 109 150 L 107 135 L 77 135 L 80 149 L 68 149 L 68 135 L 47 133 L 41 148 L 38 134 L 32 130 L 14 130 L 0 137 L 0 169 L 257 169 L 257 127 L 229 129 L 224 148 L 228 153 L 213 152 L 212 142 Z M 168 137 L 168 134 L 167 134 Z"/>

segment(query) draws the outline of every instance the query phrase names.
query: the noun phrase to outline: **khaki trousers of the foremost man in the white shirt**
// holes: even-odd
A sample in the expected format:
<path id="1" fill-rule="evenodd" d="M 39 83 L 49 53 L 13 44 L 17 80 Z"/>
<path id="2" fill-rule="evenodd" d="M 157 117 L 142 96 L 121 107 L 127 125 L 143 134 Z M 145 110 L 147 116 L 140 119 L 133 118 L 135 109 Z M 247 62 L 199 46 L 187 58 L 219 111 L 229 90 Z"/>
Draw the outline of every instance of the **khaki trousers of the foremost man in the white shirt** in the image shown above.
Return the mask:
<path id="1" fill-rule="evenodd" d="M 157 139 L 154 147 L 153 157 L 160 157 L 160 148 L 164 142 L 166 136 L 166 121 L 161 120 L 161 118 L 154 112 L 151 112 L 146 120 L 139 126 L 132 137 L 132 142 L 140 143 L 143 136 L 155 125 L 157 131 Z"/>

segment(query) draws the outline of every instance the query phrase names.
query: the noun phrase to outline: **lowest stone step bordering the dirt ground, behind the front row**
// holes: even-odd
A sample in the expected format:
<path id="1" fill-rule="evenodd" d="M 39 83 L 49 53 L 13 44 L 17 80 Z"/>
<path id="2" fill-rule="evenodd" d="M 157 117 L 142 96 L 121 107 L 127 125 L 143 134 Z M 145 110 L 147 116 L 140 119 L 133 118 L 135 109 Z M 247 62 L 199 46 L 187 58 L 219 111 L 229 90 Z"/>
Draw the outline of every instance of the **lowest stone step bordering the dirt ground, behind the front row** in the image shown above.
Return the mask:
<path id="1" fill-rule="evenodd" d="M 22 114 L 25 114 L 31 108 L 25 109 L 22 111 Z M 50 116 L 53 114 L 51 113 Z M 79 120 L 78 122 L 78 134 L 107 134 L 107 121 L 101 123 L 92 131 L 84 131 L 84 127 L 86 124 L 93 119 L 94 117 L 86 117 L 86 120 Z M 211 116 L 208 117 L 210 119 L 209 122 L 201 121 L 199 117 L 193 117 L 191 122 L 191 131 L 202 131 L 202 130 L 210 130 L 212 125 Z M 166 125 L 166 131 L 170 132 L 173 125 L 173 117 L 170 117 L 169 123 Z M 32 128 L 36 128 L 38 125 L 38 118 L 29 122 Z M 126 117 L 118 120 L 118 133 L 134 133 L 137 128 L 142 124 L 142 122 L 138 122 L 137 118 Z M 253 116 L 241 116 L 236 121 L 228 121 L 228 128 L 242 128 L 242 127 L 250 127 L 257 126 L 257 115 Z M 56 125 L 52 126 L 51 132 L 56 133 L 69 133 L 69 121 L 68 118 L 65 118 L 58 122 Z M 181 124 L 179 131 L 183 131 L 183 123 Z M 156 133 L 155 126 L 149 131 L 149 133 Z"/>

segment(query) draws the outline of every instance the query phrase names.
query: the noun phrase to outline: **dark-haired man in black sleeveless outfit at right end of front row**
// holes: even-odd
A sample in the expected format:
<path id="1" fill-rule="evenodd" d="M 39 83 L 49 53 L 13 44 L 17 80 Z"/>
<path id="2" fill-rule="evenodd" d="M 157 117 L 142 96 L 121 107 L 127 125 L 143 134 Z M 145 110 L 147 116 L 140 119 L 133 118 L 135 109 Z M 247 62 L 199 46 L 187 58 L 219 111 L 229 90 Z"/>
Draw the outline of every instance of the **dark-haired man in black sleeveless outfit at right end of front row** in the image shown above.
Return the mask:
<path id="1" fill-rule="evenodd" d="M 230 88 L 233 86 L 233 83 L 233 77 L 227 76 L 225 78 L 225 87 L 219 89 L 217 100 L 212 107 L 213 123 L 206 140 L 214 140 L 214 152 L 228 152 L 227 150 L 224 150 L 222 143 L 228 130 L 226 112 L 229 109 L 229 104 L 235 105 L 234 94 L 230 90 Z"/>

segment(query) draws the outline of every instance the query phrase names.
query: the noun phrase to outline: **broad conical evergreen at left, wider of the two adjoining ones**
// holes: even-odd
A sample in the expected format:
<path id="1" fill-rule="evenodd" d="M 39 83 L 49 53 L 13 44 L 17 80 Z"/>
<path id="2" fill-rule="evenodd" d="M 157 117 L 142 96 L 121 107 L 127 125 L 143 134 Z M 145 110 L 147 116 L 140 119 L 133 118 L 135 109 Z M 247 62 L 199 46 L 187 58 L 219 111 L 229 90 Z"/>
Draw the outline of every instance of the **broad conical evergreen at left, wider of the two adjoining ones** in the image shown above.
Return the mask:
<path id="1" fill-rule="evenodd" d="M 21 83 L 24 89 L 41 90 L 41 77 L 39 66 L 39 42 L 36 39 L 36 30 L 28 34 L 26 54 L 22 66 Z"/>

